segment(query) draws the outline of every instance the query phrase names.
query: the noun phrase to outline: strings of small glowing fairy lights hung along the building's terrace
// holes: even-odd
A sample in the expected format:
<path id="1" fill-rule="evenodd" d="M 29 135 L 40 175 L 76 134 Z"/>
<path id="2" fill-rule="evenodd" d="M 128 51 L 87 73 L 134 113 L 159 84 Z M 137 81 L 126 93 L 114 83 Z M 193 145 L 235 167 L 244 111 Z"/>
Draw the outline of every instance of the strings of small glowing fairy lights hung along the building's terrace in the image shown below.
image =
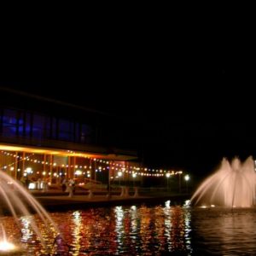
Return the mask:
<path id="1" fill-rule="evenodd" d="M 5 156 L 9 156 L 9 157 L 13 157 L 15 160 L 9 164 L 0 166 L 0 170 L 3 171 L 14 171 L 15 170 L 15 164 L 17 164 L 17 162 L 19 161 L 26 161 L 26 162 L 32 162 L 33 164 L 38 164 L 38 165 L 43 165 L 43 166 L 51 166 L 51 167 L 60 167 L 60 168 L 73 168 L 75 171 L 75 174 L 86 174 L 88 173 L 88 177 L 89 173 L 92 169 L 93 163 L 94 167 L 95 167 L 95 171 L 96 172 L 102 172 L 102 171 L 107 171 L 107 170 L 111 170 L 113 172 L 125 172 L 125 173 L 129 173 L 131 174 L 133 177 L 134 176 L 148 176 L 148 177 L 170 177 L 172 175 L 180 175 L 183 173 L 183 171 L 174 171 L 174 170 L 163 170 L 163 169 L 154 169 L 154 168 L 148 168 L 148 167 L 139 167 L 136 165 L 132 165 L 131 162 L 125 162 L 125 164 L 123 163 L 119 163 L 116 161 L 112 161 L 112 160 L 103 160 L 103 159 L 97 159 L 97 158 L 92 158 L 89 156 L 83 156 L 84 159 L 87 159 L 90 161 L 89 165 L 65 165 L 65 164 L 61 164 L 61 165 L 57 165 L 57 163 L 55 161 L 51 162 L 48 160 L 40 160 L 37 158 L 36 154 L 29 154 L 26 156 L 20 156 L 19 154 L 15 154 L 13 152 L 9 152 L 9 151 L 4 151 L 1 150 L 0 154 L 3 154 Z M 97 166 L 96 166 L 97 165 Z M 17 170 L 18 172 L 20 172 L 20 169 L 18 168 Z M 51 173 L 49 172 L 49 175 L 51 175 Z"/>

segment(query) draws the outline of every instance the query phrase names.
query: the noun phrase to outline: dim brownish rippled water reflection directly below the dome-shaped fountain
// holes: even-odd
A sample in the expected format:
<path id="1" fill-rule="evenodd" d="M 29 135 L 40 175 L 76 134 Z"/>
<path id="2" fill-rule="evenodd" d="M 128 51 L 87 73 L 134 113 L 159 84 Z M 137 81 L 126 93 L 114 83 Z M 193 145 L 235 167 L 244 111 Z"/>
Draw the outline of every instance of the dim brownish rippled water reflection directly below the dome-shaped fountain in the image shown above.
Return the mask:
<path id="1" fill-rule="evenodd" d="M 195 253 L 255 255 L 256 209 L 195 209 L 191 218 Z"/>

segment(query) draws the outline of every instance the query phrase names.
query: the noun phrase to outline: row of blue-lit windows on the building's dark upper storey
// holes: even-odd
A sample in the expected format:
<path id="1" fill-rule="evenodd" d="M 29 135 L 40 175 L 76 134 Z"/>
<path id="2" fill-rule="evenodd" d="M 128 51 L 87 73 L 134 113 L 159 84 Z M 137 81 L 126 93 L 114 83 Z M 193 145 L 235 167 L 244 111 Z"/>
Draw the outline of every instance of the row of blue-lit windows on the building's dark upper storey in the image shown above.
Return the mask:
<path id="1" fill-rule="evenodd" d="M 90 125 L 15 109 L 0 109 L 0 135 L 94 143 Z"/>

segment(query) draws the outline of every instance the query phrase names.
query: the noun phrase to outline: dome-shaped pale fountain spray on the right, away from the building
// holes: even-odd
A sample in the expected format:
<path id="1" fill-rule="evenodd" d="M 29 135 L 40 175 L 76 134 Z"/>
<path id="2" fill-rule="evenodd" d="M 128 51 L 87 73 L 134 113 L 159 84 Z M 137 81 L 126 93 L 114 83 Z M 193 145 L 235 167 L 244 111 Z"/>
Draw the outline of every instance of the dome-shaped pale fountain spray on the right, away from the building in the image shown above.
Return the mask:
<path id="1" fill-rule="evenodd" d="M 201 184 L 192 195 L 194 206 L 253 207 L 255 204 L 256 172 L 253 157 L 224 158 L 217 172 Z"/>

